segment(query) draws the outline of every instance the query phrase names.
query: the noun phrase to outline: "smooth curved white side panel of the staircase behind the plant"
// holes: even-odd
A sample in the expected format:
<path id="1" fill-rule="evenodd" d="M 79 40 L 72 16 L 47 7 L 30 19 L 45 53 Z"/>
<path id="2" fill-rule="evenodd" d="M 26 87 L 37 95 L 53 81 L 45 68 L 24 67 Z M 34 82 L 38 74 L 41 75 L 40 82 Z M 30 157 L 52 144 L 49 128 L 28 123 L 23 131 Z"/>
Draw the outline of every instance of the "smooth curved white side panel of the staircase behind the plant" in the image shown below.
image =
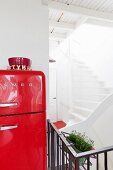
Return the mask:
<path id="1" fill-rule="evenodd" d="M 113 145 L 113 94 L 109 95 L 98 108 L 84 121 L 62 128 L 61 131 L 85 132 L 88 137 L 94 140 L 95 149 Z M 113 170 L 113 153 L 108 156 L 108 169 Z M 100 161 L 100 169 L 104 164 Z"/>

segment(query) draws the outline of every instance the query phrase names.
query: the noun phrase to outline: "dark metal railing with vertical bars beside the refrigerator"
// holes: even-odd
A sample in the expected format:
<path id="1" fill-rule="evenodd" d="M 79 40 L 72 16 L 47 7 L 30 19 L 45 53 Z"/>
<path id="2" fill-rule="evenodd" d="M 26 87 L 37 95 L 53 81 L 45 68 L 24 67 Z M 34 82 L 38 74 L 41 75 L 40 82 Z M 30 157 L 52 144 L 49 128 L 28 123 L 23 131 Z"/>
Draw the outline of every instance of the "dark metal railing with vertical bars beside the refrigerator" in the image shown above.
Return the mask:
<path id="1" fill-rule="evenodd" d="M 77 153 L 48 120 L 48 170 L 113 170 L 113 146 Z"/>

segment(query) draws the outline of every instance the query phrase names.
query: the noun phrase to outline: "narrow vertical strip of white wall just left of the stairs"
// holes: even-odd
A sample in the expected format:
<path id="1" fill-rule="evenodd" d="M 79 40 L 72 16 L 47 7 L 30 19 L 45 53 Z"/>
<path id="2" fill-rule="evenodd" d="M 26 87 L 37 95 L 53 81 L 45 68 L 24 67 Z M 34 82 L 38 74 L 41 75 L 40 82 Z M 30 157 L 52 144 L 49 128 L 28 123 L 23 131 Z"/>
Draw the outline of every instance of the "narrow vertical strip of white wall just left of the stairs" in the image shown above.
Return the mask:
<path id="1" fill-rule="evenodd" d="M 64 120 L 67 122 L 69 120 L 70 112 L 70 60 L 69 60 L 69 50 L 68 41 L 65 41 L 65 46 L 63 44 L 54 53 L 56 58 L 56 90 L 57 90 L 57 118 L 58 120 Z M 62 47 L 65 47 L 62 48 Z M 54 81 L 54 80 L 52 80 Z"/>

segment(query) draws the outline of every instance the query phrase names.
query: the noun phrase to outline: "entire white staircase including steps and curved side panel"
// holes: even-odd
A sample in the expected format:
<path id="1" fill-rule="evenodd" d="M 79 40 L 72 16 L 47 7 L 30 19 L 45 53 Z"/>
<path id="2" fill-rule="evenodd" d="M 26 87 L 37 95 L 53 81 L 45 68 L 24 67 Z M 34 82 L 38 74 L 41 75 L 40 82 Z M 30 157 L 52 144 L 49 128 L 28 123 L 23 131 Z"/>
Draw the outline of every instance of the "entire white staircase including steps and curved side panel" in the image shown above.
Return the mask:
<path id="1" fill-rule="evenodd" d="M 113 90 L 106 88 L 83 63 L 75 63 L 72 67 L 72 110 L 69 123 L 67 121 L 61 131 L 85 132 L 94 140 L 95 149 L 112 146 Z M 108 158 L 108 169 L 113 170 L 113 154 L 110 153 Z M 99 169 L 103 170 L 101 157 L 99 159 Z"/>

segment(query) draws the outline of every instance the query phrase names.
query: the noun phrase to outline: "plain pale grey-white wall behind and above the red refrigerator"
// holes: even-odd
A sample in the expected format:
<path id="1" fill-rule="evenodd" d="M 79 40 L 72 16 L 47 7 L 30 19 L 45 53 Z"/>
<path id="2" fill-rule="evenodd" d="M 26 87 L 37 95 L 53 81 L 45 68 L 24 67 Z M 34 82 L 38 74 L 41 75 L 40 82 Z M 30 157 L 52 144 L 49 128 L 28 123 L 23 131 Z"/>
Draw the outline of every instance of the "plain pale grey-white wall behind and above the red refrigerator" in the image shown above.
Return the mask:
<path id="1" fill-rule="evenodd" d="M 48 8 L 41 0 L 0 0 L 0 69 L 11 56 L 31 58 L 48 84 Z"/>

